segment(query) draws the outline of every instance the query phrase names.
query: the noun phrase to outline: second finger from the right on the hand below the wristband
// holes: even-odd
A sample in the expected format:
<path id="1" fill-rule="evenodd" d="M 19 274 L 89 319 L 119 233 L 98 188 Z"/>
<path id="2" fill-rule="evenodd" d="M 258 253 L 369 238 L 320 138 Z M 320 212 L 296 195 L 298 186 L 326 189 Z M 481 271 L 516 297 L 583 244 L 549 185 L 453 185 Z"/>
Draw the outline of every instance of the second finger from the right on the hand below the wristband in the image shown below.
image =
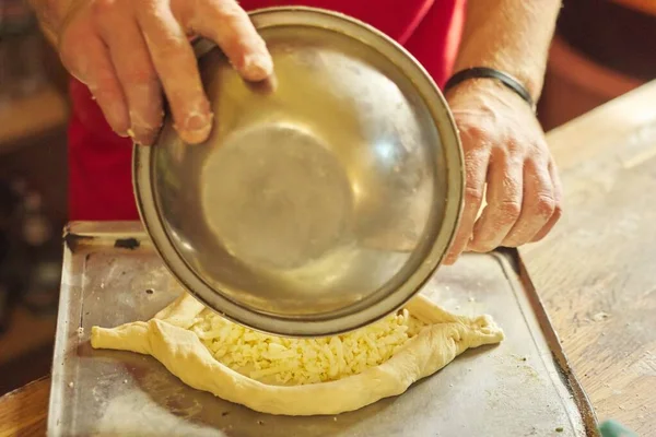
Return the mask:
<path id="1" fill-rule="evenodd" d="M 548 163 L 525 162 L 522 213 L 502 246 L 517 247 L 530 241 L 553 215 L 555 199 L 548 167 Z"/>

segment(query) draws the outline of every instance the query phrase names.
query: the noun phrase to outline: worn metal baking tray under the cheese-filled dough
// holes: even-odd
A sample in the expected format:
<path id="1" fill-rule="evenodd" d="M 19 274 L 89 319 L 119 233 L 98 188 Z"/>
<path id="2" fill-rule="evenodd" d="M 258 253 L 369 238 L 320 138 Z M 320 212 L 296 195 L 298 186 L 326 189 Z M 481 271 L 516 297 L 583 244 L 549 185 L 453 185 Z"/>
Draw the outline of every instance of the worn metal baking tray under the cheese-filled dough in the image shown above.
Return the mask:
<path id="1" fill-rule="evenodd" d="M 73 223 L 48 415 L 50 436 L 597 436 L 589 403 L 514 251 L 466 255 L 422 293 L 490 314 L 506 339 L 406 393 L 337 416 L 261 414 L 185 386 L 150 356 L 95 351 L 94 324 L 147 320 L 183 291 L 137 223 Z"/>

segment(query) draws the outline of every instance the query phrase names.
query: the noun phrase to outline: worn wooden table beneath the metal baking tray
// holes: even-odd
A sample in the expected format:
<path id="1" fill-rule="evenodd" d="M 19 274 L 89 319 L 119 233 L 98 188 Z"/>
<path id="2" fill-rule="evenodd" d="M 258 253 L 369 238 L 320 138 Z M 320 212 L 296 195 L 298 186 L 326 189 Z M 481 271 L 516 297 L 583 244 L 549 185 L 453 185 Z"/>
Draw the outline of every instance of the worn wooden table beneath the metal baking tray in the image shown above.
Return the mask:
<path id="1" fill-rule="evenodd" d="M 656 82 L 549 142 L 565 214 L 520 255 L 598 418 L 655 436 Z M 46 378 L 1 398 L 0 436 L 43 435 L 48 393 Z"/>

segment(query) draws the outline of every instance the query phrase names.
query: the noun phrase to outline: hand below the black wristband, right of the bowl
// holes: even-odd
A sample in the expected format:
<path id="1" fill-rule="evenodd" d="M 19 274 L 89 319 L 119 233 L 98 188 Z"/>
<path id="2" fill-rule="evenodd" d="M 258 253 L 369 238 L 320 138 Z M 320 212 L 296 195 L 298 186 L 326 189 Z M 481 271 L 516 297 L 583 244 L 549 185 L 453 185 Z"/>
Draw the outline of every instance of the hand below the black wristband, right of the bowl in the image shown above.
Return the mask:
<path id="1" fill-rule="evenodd" d="M 544 237 L 562 214 L 562 187 L 529 106 L 492 80 L 464 82 L 447 99 L 462 141 L 466 189 L 445 263 L 465 250 L 488 252 Z"/>

